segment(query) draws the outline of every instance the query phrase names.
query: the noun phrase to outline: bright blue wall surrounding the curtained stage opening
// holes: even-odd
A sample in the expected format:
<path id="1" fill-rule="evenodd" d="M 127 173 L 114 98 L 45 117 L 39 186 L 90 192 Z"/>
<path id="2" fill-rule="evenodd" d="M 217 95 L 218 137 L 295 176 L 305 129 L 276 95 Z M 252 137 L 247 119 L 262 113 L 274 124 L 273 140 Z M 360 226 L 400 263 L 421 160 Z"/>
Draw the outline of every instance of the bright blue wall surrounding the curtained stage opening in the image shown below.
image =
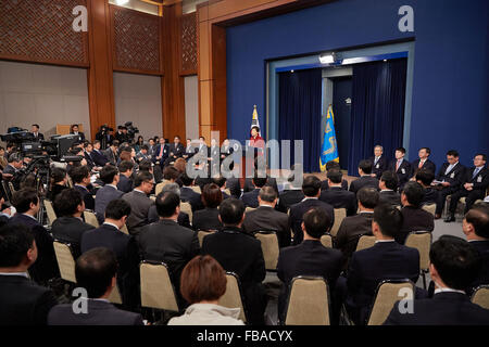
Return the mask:
<path id="1" fill-rule="evenodd" d="M 414 9 L 414 33 L 398 10 Z M 340 0 L 227 29 L 228 137 L 244 141 L 258 104 L 265 130 L 266 61 L 415 39 L 410 159 L 431 147 L 437 167 L 456 149 L 489 154 L 489 1 Z M 262 132 L 264 134 L 264 131 Z"/>

